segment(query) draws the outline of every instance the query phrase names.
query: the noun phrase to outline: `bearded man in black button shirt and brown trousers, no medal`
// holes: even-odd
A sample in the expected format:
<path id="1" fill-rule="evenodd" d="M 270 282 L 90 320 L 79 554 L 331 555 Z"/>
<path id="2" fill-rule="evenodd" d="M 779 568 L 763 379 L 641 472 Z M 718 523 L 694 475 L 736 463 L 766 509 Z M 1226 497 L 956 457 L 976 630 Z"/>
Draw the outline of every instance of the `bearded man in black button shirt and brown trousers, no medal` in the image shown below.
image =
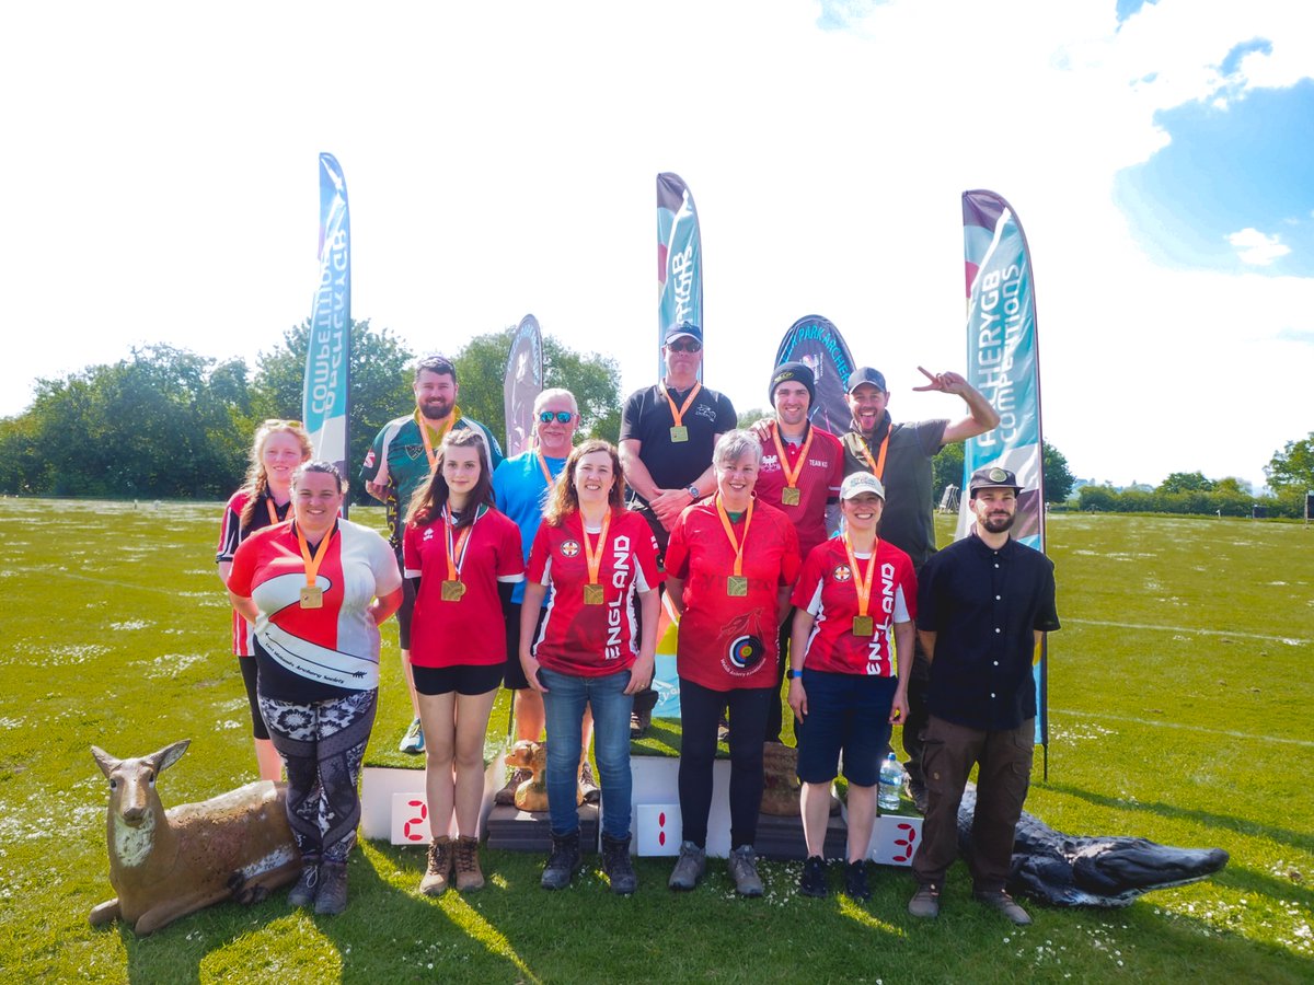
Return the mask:
<path id="1" fill-rule="evenodd" d="M 1026 910 L 1005 892 L 1013 835 L 1026 800 L 1035 742 L 1031 659 L 1059 628 L 1054 562 L 1009 535 L 1021 489 L 1008 469 L 978 469 L 968 483 L 970 536 L 932 557 L 917 590 L 917 634 L 930 663 L 922 771 L 926 820 L 912 860 L 915 917 L 940 913 L 945 872 L 958 856 L 958 805 L 979 764 L 968 865 L 976 898 L 1018 925 Z"/>

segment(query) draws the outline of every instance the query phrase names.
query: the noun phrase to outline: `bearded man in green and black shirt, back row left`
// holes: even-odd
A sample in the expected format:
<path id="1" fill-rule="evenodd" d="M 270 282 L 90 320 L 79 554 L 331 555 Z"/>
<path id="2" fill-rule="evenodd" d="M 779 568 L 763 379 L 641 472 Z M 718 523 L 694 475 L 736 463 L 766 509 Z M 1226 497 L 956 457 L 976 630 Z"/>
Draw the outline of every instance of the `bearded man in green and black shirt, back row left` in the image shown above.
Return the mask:
<path id="1" fill-rule="evenodd" d="M 410 504 L 411 494 L 428 478 L 434 469 L 438 448 L 451 428 L 474 428 L 484 436 L 487 445 L 489 468 L 495 469 L 502 461 L 502 447 L 493 432 L 473 418 L 461 415 L 456 406 L 460 387 L 456 383 L 456 366 L 445 356 L 426 356 L 415 364 L 415 410 L 411 414 L 389 420 L 374 437 L 374 444 L 360 466 L 360 478 L 365 481 L 365 491 L 388 506 L 388 525 L 392 528 L 392 545 L 397 552 L 397 570 L 402 570 L 402 516 Z M 415 700 L 415 684 L 410 671 L 410 619 L 415 608 L 415 587 L 410 579 L 403 579 L 406 590 L 402 607 L 397 611 L 397 626 L 402 650 L 402 674 L 406 690 L 411 696 L 413 720 L 398 749 L 402 753 L 423 753 L 424 733 L 419 724 L 419 704 Z"/>

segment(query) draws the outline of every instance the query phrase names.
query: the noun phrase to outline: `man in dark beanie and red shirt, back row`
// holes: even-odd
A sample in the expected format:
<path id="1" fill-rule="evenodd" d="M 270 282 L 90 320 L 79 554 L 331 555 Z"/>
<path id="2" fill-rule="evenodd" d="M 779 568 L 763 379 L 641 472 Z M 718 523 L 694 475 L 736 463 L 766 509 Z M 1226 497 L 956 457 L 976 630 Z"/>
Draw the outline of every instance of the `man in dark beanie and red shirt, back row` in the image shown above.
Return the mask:
<path id="1" fill-rule="evenodd" d="M 758 500 L 781 510 L 799 535 L 800 554 L 827 538 L 827 507 L 840 502 L 844 481 L 844 449 L 829 431 L 813 427 L 808 419 L 816 383 L 812 369 L 803 362 L 782 362 L 771 373 L 767 397 L 775 414 L 757 422 L 753 433 L 762 443 L 762 464 L 757 473 Z M 781 624 L 781 646 L 775 688 L 784 682 L 790 659 L 792 609 Z M 781 741 L 783 712 L 774 701 L 766 716 L 766 741 Z"/>

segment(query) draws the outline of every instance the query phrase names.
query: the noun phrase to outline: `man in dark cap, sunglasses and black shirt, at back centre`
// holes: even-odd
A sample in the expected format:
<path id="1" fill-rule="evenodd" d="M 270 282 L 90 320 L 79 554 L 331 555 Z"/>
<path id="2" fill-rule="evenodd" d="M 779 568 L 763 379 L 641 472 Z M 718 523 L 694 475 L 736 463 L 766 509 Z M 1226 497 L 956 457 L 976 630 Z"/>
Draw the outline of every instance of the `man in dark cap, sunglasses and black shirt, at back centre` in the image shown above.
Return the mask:
<path id="1" fill-rule="evenodd" d="M 666 330 L 662 356 L 666 377 L 636 390 L 620 414 L 620 466 L 632 492 L 631 508 L 643 512 L 666 552 L 670 528 L 681 512 L 716 487 L 712 448 L 738 423 L 729 398 L 703 386 L 703 330 L 679 322 Z M 658 559 L 661 557 L 658 556 Z M 631 733 L 646 732 L 657 692 L 635 695 Z"/>

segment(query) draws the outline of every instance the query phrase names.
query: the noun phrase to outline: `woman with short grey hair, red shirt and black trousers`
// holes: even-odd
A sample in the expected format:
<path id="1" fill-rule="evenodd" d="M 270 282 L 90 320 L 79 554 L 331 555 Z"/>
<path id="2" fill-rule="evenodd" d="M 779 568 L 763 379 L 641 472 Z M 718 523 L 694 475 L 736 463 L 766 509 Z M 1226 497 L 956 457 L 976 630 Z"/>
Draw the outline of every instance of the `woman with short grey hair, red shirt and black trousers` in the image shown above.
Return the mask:
<path id="1" fill-rule="evenodd" d="M 707 864 L 716 726 L 731 714 L 731 855 L 735 886 L 761 896 L 757 817 L 762 806 L 762 735 L 778 701 L 781 620 L 799 574 L 799 535 L 781 510 L 753 496 L 762 445 L 750 431 L 716 441 L 716 494 L 675 521 L 666 548 L 666 598 L 679 615 L 679 810 L 683 823 L 671 889 L 692 889 Z"/>

